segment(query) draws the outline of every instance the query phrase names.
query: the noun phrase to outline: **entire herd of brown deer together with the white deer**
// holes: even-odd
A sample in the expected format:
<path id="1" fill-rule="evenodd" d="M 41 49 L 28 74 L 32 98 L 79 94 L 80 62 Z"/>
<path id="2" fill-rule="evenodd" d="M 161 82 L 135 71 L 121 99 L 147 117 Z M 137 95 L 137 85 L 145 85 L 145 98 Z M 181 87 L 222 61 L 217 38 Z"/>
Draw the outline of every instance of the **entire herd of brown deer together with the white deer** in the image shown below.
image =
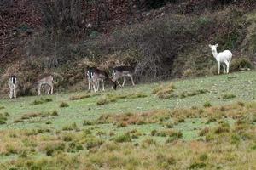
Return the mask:
<path id="1" fill-rule="evenodd" d="M 224 73 L 229 73 L 230 71 L 230 62 L 232 59 L 232 53 L 230 50 L 225 50 L 221 53 L 217 52 L 218 44 L 216 45 L 209 45 L 209 47 L 212 50 L 212 55 L 216 59 L 218 63 L 218 74 L 220 73 L 220 65 L 223 66 Z M 100 83 L 102 83 L 102 91 L 105 90 L 104 83 L 106 81 L 111 82 L 112 88 L 115 90 L 117 86 L 120 88 L 124 88 L 126 77 L 131 78 L 131 83 L 133 86 L 135 86 L 133 77 L 136 73 L 135 69 L 131 66 L 117 66 L 113 68 L 113 78 L 108 77 L 108 73 L 106 71 L 102 71 L 97 69 L 96 67 L 90 67 L 87 69 L 86 77 L 88 80 L 88 90 L 94 90 L 94 92 L 98 92 L 100 88 Z M 60 74 L 57 73 L 51 73 L 46 74 L 42 77 L 39 77 L 38 80 L 34 83 L 37 85 L 38 88 L 38 95 L 41 95 L 41 88 L 43 86 L 48 87 L 48 93 L 47 94 L 53 94 L 54 90 L 54 77 L 61 77 Z M 122 84 L 119 83 L 119 79 L 123 78 L 124 82 Z M 63 77 L 61 77 L 63 79 Z M 9 98 L 13 99 L 17 96 L 17 88 L 18 88 L 18 78 L 15 75 L 12 75 L 9 77 Z"/>

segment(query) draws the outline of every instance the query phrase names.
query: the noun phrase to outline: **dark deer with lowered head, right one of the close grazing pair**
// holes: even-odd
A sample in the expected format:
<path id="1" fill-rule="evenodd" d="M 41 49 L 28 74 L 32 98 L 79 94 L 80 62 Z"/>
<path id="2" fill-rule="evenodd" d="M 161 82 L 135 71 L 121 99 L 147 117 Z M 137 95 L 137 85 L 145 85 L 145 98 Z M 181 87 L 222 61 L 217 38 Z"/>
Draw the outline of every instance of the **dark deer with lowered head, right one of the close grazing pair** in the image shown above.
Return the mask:
<path id="1" fill-rule="evenodd" d="M 134 68 L 131 66 L 117 66 L 113 68 L 113 82 L 117 82 L 117 84 L 119 85 L 120 88 L 124 88 L 125 86 L 125 82 L 126 82 L 126 77 L 130 77 L 131 78 L 131 82 L 132 85 L 135 86 L 134 82 L 133 82 L 133 75 L 134 75 Z M 124 77 L 124 82 L 121 85 L 118 80 L 119 78 Z M 114 87 L 115 86 L 115 87 Z M 116 84 L 113 83 L 113 89 L 116 88 Z"/>

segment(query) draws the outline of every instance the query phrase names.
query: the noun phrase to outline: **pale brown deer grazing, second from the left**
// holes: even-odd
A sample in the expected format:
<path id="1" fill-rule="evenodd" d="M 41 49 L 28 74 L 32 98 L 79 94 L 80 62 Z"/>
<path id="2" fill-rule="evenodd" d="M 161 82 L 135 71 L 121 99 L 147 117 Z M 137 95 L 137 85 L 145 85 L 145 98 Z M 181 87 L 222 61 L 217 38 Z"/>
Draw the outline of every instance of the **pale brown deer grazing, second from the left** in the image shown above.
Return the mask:
<path id="1" fill-rule="evenodd" d="M 38 85 L 38 95 L 41 95 L 41 88 L 43 85 L 47 85 L 49 87 L 47 94 L 53 94 L 53 90 L 54 90 L 53 76 L 61 77 L 61 79 L 63 80 L 63 77 L 57 73 L 51 73 L 51 74 L 46 73 L 42 75 L 41 77 L 38 78 L 38 81 L 36 82 L 36 84 Z"/>

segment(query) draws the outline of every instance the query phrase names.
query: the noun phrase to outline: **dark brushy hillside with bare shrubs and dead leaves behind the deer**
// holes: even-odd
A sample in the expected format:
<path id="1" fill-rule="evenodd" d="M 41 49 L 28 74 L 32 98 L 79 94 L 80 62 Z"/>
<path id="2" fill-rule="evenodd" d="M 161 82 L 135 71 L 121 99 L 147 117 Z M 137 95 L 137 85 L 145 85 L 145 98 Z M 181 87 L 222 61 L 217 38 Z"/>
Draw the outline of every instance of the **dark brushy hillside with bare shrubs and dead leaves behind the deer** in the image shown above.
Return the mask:
<path id="1" fill-rule="evenodd" d="M 60 71 L 64 81 L 56 88 L 79 87 L 86 65 L 107 71 L 114 65 L 137 65 L 140 81 L 208 75 L 216 72 L 216 63 L 207 45 L 217 42 L 219 51 L 230 49 L 235 54 L 231 71 L 252 69 L 255 4 L 252 0 L 3 1 L 3 82 L 17 74 L 23 84 L 20 94 L 31 94 L 33 77 Z M 6 93 L 6 84 L 2 86 Z"/>

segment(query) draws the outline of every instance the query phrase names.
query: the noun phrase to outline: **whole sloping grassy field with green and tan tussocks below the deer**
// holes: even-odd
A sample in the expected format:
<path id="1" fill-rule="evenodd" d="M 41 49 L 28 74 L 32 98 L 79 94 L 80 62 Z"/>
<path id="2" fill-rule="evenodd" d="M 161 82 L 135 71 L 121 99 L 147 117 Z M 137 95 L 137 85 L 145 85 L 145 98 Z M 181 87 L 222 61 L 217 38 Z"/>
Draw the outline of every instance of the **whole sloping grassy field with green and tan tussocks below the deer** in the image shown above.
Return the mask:
<path id="1" fill-rule="evenodd" d="M 256 72 L 0 100 L 0 169 L 256 169 Z"/>

